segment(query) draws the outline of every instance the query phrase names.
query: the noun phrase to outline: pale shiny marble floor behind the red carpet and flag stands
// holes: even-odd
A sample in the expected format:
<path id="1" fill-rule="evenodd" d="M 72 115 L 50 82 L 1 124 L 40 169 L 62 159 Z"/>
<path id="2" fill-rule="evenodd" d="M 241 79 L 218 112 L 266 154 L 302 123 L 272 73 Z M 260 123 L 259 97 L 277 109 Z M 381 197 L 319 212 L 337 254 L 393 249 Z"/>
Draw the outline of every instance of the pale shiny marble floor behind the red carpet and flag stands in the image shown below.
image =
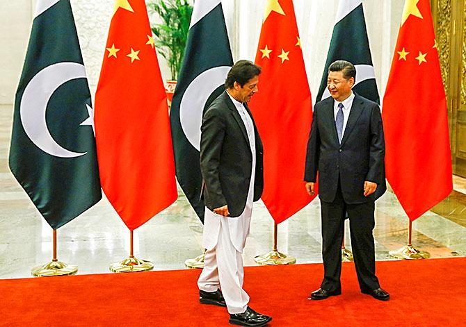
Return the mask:
<path id="1" fill-rule="evenodd" d="M 52 255 L 52 230 L 19 187 L 8 168 L 13 107 L 0 106 L 0 278 L 25 278 Z M 431 258 L 466 256 L 466 180 L 455 176 L 455 189 L 433 210 L 413 223 L 412 244 Z M 319 199 L 278 226 L 278 250 L 297 263 L 321 262 Z M 346 246 L 351 242 L 346 230 Z M 408 242 L 408 218 L 391 192 L 376 203 L 376 259 Z M 186 269 L 184 260 L 199 255 L 202 224 L 186 197 L 138 228 L 134 254 L 155 270 Z M 263 203 L 252 215 L 244 251 L 245 265 L 271 251 L 273 220 Z M 106 199 L 58 230 L 58 259 L 79 267 L 78 274 L 109 273 L 109 265 L 129 254 L 129 231 Z"/>

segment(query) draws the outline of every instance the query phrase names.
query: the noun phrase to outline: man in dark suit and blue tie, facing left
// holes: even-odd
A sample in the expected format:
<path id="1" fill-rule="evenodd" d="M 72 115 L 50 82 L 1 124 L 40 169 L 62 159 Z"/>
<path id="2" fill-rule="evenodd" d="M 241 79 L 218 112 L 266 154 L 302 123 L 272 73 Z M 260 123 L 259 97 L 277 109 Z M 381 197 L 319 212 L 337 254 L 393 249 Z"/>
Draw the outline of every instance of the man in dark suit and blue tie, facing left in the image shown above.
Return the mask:
<path id="1" fill-rule="evenodd" d="M 319 172 L 324 277 L 311 299 L 342 294 L 341 246 L 347 212 L 361 292 L 388 300 L 380 288 L 372 230 L 374 201 L 386 190 L 385 143 L 380 108 L 352 92 L 356 69 L 337 60 L 328 69 L 331 97 L 316 103 L 307 143 L 306 190 L 314 194 Z"/>

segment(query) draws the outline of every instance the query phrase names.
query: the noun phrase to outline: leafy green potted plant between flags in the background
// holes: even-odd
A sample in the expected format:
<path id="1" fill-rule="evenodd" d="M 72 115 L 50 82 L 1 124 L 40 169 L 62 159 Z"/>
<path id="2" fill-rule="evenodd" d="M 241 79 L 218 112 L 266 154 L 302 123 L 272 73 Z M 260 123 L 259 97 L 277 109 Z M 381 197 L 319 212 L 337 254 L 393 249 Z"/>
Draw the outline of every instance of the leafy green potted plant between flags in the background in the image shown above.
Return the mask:
<path id="1" fill-rule="evenodd" d="M 161 19 L 159 24 L 152 24 L 151 29 L 155 35 L 156 49 L 170 68 L 171 81 L 167 81 L 166 90 L 171 103 L 188 39 L 193 6 L 188 0 L 152 0 L 146 6 Z"/>

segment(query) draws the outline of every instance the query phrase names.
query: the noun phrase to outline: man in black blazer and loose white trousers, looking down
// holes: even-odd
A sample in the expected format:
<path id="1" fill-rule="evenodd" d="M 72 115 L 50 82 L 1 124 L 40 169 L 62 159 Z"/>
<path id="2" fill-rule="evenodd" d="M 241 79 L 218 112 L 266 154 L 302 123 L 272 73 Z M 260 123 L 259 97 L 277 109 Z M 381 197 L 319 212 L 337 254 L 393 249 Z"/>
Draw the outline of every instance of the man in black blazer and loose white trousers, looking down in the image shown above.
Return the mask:
<path id="1" fill-rule="evenodd" d="M 252 202 L 264 187 L 262 142 L 248 108 L 261 67 L 240 60 L 230 69 L 225 92 L 211 103 L 201 126 L 200 168 L 206 205 L 202 245 L 207 249 L 198 280 L 200 303 L 226 306 L 230 324 L 264 326 L 271 317 L 248 307 L 242 252 Z M 221 290 L 220 291 L 220 287 Z"/>

